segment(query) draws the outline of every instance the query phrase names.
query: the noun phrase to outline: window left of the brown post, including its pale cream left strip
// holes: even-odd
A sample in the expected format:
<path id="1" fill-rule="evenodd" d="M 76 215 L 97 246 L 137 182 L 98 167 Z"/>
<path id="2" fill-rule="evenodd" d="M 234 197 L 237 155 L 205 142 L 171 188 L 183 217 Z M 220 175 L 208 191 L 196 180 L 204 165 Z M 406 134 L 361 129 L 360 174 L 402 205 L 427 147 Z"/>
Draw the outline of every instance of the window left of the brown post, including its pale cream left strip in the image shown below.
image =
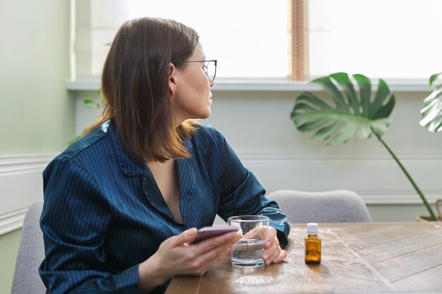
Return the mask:
<path id="1" fill-rule="evenodd" d="M 78 77 L 100 75 L 106 44 L 121 23 L 141 16 L 172 18 L 193 27 L 207 58 L 218 60 L 217 79 L 287 76 L 287 0 L 76 2 Z"/>

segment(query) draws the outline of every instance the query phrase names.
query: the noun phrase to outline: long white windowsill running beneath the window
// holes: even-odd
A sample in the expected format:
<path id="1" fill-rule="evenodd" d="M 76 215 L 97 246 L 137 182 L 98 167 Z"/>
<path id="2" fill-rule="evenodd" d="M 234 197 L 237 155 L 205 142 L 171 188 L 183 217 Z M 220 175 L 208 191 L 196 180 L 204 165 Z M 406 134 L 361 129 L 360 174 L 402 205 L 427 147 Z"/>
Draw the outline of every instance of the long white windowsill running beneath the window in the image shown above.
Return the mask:
<path id="1" fill-rule="evenodd" d="M 427 79 L 388 80 L 392 92 L 431 92 Z M 376 84 L 374 84 L 376 85 Z M 70 91 L 95 91 L 100 87 L 98 79 L 67 80 L 66 88 Z M 376 88 L 375 88 L 376 89 Z M 213 91 L 321 91 L 319 85 L 309 82 L 295 82 L 292 80 L 215 80 Z"/>

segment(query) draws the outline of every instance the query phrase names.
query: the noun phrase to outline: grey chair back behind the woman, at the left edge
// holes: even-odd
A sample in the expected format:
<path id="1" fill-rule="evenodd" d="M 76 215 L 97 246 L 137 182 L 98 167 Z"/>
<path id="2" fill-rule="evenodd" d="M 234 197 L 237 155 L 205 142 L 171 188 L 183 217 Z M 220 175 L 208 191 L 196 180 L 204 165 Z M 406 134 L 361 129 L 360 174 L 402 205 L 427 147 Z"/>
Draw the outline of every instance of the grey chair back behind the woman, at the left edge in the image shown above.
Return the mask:
<path id="1" fill-rule="evenodd" d="M 42 207 L 43 202 L 36 202 L 26 212 L 11 294 L 46 293 L 38 274 L 38 267 L 44 258 L 43 233 L 39 224 Z"/>

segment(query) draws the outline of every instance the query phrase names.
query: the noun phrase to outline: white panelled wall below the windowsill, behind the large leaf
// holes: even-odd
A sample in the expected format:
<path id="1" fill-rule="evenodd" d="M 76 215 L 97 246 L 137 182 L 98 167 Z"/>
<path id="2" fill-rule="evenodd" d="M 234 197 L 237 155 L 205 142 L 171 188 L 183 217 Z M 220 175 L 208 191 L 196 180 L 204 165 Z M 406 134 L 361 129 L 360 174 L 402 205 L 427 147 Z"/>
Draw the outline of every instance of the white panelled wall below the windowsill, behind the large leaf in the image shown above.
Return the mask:
<path id="1" fill-rule="evenodd" d="M 300 92 L 213 91 L 214 125 L 241 160 L 271 192 L 350 189 L 362 196 L 374 221 L 414 221 L 428 214 L 390 154 L 376 138 L 327 147 L 299 133 L 289 118 Z M 419 109 L 428 92 L 399 92 L 393 124 L 383 139 L 434 203 L 442 198 L 442 134 L 419 125 Z M 77 92 L 77 132 L 97 111 L 81 100 L 95 92 Z"/>

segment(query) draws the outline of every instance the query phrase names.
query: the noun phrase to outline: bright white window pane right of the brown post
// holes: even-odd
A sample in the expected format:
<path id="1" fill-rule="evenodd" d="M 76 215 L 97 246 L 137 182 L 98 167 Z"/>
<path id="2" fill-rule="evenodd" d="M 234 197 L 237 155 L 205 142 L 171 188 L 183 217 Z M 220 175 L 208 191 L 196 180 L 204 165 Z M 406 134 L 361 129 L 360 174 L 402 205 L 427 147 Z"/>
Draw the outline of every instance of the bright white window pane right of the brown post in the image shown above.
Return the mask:
<path id="1" fill-rule="evenodd" d="M 442 71 L 442 1 L 309 0 L 309 75 L 429 78 Z"/>

